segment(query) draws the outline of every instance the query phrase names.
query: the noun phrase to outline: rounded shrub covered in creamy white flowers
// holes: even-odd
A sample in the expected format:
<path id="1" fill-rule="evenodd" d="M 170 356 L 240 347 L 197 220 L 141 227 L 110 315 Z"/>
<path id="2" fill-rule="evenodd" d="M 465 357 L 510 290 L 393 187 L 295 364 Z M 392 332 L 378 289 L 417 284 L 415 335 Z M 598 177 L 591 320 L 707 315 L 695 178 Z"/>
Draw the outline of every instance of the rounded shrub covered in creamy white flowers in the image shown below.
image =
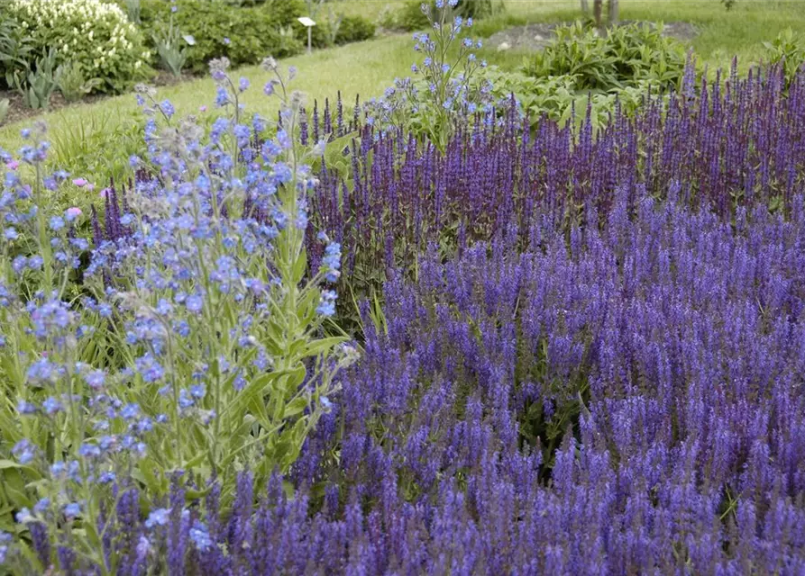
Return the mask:
<path id="1" fill-rule="evenodd" d="M 8 16 L 19 24 L 34 52 L 56 49 L 60 62 L 98 78 L 97 90 L 121 92 L 144 76 L 151 54 L 142 34 L 116 4 L 102 0 L 9 0 Z"/>

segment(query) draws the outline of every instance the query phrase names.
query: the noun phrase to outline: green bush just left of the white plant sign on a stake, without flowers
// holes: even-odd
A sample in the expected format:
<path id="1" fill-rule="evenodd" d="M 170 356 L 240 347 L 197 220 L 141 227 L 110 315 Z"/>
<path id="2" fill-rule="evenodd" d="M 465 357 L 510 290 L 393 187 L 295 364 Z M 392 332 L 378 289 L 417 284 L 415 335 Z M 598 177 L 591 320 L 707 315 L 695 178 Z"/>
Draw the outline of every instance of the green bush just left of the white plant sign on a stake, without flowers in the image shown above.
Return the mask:
<path id="1" fill-rule="evenodd" d="M 266 54 L 286 57 L 302 45 L 283 38 L 284 25 L 266 5 L 233 8 L 222 2 L 187 0 L 178 4 L 176 26 L 182 35 L 192 36 L 195 44 L 187 49 L 187 66 L 195 72 L 206 70 L 213 58 L 228 58 L 233 66 L 257 64 Z"/>

